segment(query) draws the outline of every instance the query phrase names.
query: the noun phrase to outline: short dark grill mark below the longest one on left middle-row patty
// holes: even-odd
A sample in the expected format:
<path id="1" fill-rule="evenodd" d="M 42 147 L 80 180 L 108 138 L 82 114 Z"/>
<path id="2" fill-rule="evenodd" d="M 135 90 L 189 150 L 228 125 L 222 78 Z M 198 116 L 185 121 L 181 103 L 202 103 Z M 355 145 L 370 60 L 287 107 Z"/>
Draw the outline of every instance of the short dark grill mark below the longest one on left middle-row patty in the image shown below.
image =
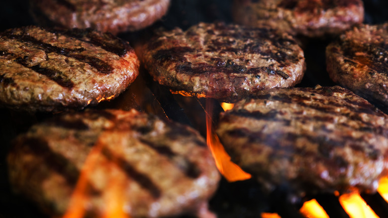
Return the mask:
<path id="1" fill-rule="evenodd" d="M 29 68 L 33 71 L 35 71 L 38 74 L 44 75 L 50 80 L 54 81 L 58 85 L 66 88 L 66 89 L 72 89 L 74 87 L 74 83 L 68 79 L 65 75 L 62 75 L 62 72 L 51 70 L 48 68 L 42 68 L 40 64 L 29 67 L 25 60 L 23 60 L 21 57 L 18 57 L 14 60 L 16 63 L 22 65 L 23 67 Z"/>

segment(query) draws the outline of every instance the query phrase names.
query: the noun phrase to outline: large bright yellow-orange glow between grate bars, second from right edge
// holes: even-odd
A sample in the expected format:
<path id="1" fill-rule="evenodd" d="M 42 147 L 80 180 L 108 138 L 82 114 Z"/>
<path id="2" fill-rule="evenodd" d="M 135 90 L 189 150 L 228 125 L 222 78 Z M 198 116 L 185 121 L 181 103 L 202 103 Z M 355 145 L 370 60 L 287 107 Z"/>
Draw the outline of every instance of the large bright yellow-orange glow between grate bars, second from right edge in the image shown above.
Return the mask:
<path id="1" fill-rule="evenodd" d="M 350 218 L 379 218 L 359 194 L 341 195 L 339 200 Z"/>

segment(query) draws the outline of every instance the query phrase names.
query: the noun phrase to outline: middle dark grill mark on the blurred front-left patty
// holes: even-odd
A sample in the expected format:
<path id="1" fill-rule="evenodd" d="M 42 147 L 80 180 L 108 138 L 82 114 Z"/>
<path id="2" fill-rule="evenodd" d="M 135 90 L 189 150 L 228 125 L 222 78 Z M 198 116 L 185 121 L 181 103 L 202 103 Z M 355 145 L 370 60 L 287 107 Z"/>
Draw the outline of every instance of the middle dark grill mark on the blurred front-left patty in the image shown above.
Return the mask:
<path id="1" fill-rule="evenodd" d="M 134 179 L 140 186 L 147 189 L 155 199 L 161 197 L 161 190 L 147 177 L 147 175 L 138 172 L 126 160 L 113 154 L 107 148 L 103 148 L 101 152 L 108 160 L 117 163 L 130 179 Z"/>

